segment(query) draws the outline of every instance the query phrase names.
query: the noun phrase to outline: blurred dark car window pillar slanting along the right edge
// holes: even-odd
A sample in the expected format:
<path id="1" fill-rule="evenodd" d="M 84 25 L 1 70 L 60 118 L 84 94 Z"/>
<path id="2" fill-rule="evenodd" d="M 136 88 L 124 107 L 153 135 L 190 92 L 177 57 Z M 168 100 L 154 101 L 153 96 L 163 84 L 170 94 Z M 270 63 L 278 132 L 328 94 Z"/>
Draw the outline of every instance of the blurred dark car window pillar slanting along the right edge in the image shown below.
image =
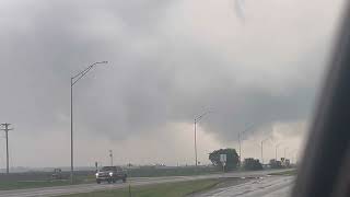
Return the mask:
<path id="1" fill-rule="evenodd" d="M 350 196 L 350 12 L 340 26 L 292 196 Z"/>

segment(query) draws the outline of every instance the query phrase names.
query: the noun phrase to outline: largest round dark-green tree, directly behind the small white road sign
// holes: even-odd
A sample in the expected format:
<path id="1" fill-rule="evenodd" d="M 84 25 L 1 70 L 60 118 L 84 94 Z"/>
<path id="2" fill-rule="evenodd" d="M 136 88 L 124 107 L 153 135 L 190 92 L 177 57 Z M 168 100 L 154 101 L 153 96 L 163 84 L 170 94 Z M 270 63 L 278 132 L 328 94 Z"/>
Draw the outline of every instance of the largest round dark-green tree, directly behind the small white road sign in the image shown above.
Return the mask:
<path id="1" fill-rule="evenodd" d="M 226 165 L 225 171 L 233 171 L 238 164 L 238 154 L 235 149 L 220 149 L 214 150 L 209 154 L 209 160 L 214 166 L 222 169 L 222 163 L 220 162 L 220 154 L 226 154 Z"/>

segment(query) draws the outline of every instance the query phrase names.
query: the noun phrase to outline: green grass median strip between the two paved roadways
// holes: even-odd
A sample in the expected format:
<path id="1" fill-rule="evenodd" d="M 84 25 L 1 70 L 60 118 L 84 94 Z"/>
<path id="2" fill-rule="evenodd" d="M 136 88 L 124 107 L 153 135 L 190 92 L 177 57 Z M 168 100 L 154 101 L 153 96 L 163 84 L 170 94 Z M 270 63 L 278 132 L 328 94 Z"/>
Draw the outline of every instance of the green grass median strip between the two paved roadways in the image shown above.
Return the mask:
<path id="1" fill-rule="evenodd" d="M 209 190 L 217 186 L 220 179 L 198 179 L 177 183 L 164 183 L 148 186 L 131 185 L 132 197 L 183 197 L 199 192 Z M 108 189 L 103 192 L 93 192 L 85 194 L 63 195 L 62 197 L 129 197 L 129 188 Z"/>

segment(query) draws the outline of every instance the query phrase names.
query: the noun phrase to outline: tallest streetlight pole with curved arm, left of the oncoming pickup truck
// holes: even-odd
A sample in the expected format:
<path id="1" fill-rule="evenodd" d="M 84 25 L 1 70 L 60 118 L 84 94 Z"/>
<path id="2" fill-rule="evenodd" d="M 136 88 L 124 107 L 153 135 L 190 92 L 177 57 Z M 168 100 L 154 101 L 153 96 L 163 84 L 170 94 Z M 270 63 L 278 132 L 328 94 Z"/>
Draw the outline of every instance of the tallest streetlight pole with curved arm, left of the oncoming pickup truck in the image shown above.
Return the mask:
<path id="1" fill-rule="evenodd" d="M 92 68 L 94 68 L 96 65 L 100 63 L 108 63 L 108 61 L 98 61 L 94 62 L 91 66 L 89 66 L 83 71 L 79 72 L 78 74 L 73 76 L 70 79 L 70 182 L 73 184 L 73 85 L 82 79 Z"/>

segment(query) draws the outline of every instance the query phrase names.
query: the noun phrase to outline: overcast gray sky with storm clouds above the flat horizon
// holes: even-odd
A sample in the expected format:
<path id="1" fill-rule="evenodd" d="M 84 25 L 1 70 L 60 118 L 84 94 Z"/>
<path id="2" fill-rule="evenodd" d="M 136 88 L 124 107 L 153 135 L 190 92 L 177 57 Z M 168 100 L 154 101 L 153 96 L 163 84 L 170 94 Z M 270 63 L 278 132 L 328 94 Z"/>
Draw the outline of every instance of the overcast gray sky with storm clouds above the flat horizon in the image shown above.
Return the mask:
<path id="1" fill-rule="evenodd" d="M 217 148 L 302 149 L 342 0 L 0 1 L 0 121 L 12 166 L 194 163 Z M 3 134 L 1 134 L 3 137 Z M 0 167 L 4 162 L 0 139 Z M 281 152 L 282 152 L 281 148 Z"/>

